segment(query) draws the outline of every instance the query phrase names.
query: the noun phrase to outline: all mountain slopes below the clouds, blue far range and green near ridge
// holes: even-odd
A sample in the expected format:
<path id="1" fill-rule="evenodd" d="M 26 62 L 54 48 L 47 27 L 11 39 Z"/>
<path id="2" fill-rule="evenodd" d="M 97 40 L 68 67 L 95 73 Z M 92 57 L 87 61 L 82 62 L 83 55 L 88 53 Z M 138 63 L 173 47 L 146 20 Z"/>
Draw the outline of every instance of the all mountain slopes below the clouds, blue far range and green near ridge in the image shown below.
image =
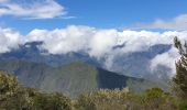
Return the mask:
<path id="1" fill-rule="evenodd" d="M 120 54 L 113 58 L 114 65 L 110 68 L 106 66 L 107 55 L 101 59 L 84 52 L 53 55 L 40 50 L 40 45 L 42 42 L 26 43 L 18 50 L 0 54 L 0 69 L 16 75 L 25 86 L 70 96 L 100 88 L 129 87 L 140 92 L 150 87 L 168 87 L 169 68 L 161 66 L 152 72 L 150 62 L 172 45 L 154 45 L 146 52 Z"/>

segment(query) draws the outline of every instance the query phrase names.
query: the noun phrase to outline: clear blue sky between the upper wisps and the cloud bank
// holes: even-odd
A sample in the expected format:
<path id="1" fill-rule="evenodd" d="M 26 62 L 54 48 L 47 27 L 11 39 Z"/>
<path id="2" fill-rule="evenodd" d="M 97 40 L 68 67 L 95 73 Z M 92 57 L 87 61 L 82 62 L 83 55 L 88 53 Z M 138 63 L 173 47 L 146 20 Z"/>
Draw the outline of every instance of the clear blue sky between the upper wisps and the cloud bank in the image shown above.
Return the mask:
<path id="1" fill-rule="evenodd" d="M 2 1 L 2 3 L 1 3 Z M 15 0 L 0 0 L 1 9 L 7 1 L 12 3 Z M 26 7 L 28 0 L 22 7 Z M 67 25 L 88 25 L 100 29 L 121 29 L 133 26 L 136 23 L 152 23 L 157 19 L 169 21 L 178 15 L 187 13 L 186 0 L 31 0 L 41 6 L 45 1 L 53 1 L 66 11 L 63 18 L 25 19 L 29 16 L 1 13 L 0 25 L 12 28 L 22 34 L 28 34 L 33 29 L 53 30 Z M 16 2 L 14 2 L 16 4 Z M 42 4 L 43 3 L 43 4 Z M 19 4 L 19 3 L 18 3 Z M 30 6 L 32 7 L 32 6 Z M 50 6 L 48 6 L 50 7 Z M 42 8 L 42 7 L 41 7 Z M 48 9 L 50 10 L 50 9 Z M 31 13 L 32 14 L 32 13 Z M 74 18 L 72 18 L 74 16 Z M 148 26 L 150 28 L 150 26 Z"/>

